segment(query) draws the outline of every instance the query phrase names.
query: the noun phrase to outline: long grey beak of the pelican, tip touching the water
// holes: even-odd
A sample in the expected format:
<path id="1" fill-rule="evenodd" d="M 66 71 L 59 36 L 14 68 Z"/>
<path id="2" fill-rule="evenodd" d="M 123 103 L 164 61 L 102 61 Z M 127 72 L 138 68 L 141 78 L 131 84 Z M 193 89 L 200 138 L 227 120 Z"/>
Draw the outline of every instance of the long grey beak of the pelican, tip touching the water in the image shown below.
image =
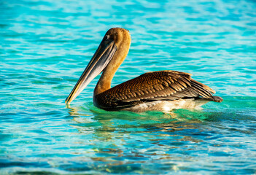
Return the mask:
<path id="1" fill-rule="evenodd" d="M 98 74 L 101 74 L 101 71 L 103 71 L 109 61 L 111 61 L 116 50 L 117 46 L 115 42 L 112 39 L 105 39 L 104 37 L 77 84 L 66 98 L 66 104 L 70 104 Z"/>

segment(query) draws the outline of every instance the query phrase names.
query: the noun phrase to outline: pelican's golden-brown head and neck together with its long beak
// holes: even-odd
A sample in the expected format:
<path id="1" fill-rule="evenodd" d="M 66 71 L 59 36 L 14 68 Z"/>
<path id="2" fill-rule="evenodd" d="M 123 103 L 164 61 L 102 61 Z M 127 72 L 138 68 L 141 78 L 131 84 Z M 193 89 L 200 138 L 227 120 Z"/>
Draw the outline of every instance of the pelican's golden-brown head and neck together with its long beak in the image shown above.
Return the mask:
<path id="1" fill-rule="evenodd" d="M 76 98 L 86 86 L 103 71 L 94 95 L 110 88 L 115 71 L 123 63 L 131 44 L 131 36 L 124 28 L 110 28 L 99 44 L 98 49 L 91 58 L 88 66 L 83 71 L 73 90 L 66 98 L 66 104 Z"/>

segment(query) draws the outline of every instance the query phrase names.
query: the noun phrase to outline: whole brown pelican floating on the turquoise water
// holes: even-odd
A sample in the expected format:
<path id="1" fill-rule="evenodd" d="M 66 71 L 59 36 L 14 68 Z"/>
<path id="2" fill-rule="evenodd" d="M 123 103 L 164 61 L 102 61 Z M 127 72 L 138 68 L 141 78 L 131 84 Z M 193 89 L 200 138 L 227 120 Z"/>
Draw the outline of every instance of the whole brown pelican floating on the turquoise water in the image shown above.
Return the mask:
<path id="1" fill-rule="evenodd" d="M 100 79 L 93 92 L 93 104 L 107 111 L 131 112 L 193 109 L 209 101 L 223 101 L 212 88 L 181 71 L 151 71 L 111 88 L 115 72 L 125 60 L 131 36 L 124 28 L 110 28 L 98 46 L 93 58 L 83 71 L 77 84 L 66 98 L 66 104 L 98 75 Z"/>

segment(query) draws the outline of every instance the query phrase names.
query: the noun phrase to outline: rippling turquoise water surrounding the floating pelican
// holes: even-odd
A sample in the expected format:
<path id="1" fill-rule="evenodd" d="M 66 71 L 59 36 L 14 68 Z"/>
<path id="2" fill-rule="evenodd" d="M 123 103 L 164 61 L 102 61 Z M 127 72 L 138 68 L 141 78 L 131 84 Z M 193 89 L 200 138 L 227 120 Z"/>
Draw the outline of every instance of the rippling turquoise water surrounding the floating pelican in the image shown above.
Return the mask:
<path id="1" fill-rule="evenodd" d="M 255 174 L 256 2 L 0 1 L 0 174 Z M 131 50 L 112 84 L 177 70 L 203 110 L 106 112 L 97 78 L 65 106 L 112 27 Z"/>

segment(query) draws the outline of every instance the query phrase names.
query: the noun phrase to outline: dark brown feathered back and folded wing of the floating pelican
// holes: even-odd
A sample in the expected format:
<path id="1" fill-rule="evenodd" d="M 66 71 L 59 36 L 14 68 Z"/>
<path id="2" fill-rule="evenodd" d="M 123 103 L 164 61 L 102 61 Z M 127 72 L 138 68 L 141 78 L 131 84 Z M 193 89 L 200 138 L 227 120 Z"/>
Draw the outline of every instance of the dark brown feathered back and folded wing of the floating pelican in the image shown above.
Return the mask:
<path id="1" fill-rule="evenodd" d="M 212 96 L 212 88 L 192 79 L 181 71 L 152 71 L 123 82 L 96 95 L 95 104 L 105 110 L 120 110 L 147 101 L 174 101 L 179 99 L 205 99 L 221 102 Z"/>

